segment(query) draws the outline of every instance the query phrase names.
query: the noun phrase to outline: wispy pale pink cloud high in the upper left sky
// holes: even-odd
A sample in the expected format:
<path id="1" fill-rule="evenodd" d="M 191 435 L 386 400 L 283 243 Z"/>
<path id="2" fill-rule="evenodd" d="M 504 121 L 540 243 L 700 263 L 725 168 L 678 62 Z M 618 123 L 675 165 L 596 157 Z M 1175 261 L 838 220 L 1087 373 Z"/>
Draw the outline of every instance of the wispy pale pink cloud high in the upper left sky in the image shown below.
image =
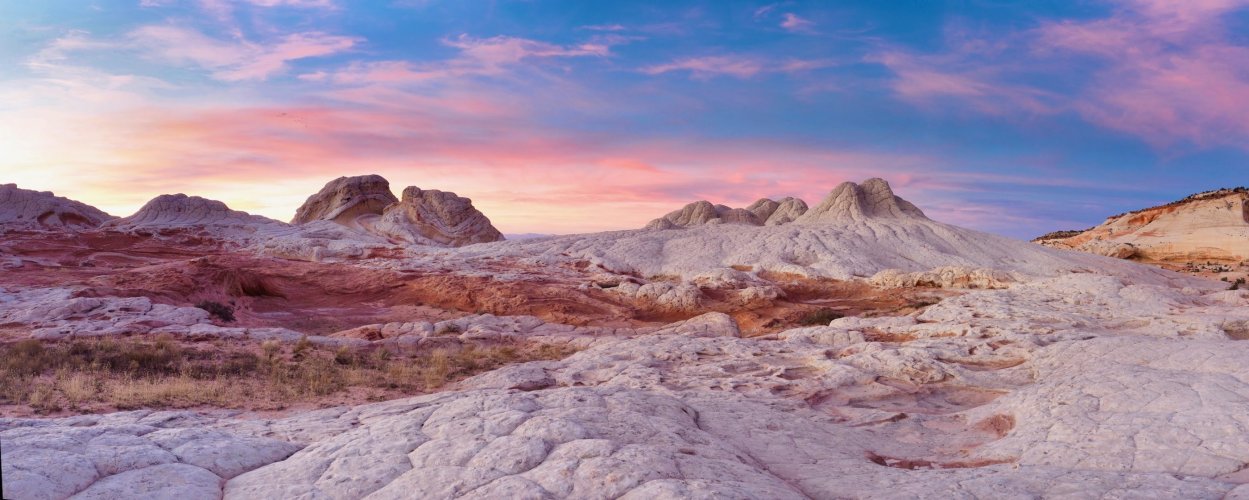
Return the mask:
<path id="1" fill-rule="evenodd" d="M 179 25 L 151 25 L 131 31 L 127 41 L 146 56 L 209 70 L 224 81 L 266 80 L 300 59 L 347 51 L 361 39 L 325 32 L 296 32 L 266 44 L 222 40 Z"/>

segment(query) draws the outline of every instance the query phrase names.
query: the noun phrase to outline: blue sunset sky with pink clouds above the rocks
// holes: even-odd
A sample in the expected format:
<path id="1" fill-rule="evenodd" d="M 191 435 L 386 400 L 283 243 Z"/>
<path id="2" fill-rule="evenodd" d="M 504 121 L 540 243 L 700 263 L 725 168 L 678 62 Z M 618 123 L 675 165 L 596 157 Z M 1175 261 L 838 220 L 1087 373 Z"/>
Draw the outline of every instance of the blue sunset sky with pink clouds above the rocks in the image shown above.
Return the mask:
<path id="1" fill-rule="evenodd" d="M 362 174 L 505 234 L 868 178 L 1083 229 L 1249 184 L 1249 0 L 0 0 L 0 182 L 290 220 Z"/>

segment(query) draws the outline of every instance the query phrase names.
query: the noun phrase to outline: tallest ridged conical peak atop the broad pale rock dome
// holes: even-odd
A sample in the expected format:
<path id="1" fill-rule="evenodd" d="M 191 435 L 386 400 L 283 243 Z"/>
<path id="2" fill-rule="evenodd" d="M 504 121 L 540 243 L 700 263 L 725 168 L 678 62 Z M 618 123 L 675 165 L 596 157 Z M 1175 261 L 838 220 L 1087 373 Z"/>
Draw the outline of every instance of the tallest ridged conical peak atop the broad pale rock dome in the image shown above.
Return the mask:
<path id="1" fill-rule="evenodd" d="M 819 205 L 794 220 L 794 224 L 827 224 L 864 219 L 924 219 L 924 212 L 893 194 L 883 179 L 868 179 L 862 185 L 842 182 Z"/>

